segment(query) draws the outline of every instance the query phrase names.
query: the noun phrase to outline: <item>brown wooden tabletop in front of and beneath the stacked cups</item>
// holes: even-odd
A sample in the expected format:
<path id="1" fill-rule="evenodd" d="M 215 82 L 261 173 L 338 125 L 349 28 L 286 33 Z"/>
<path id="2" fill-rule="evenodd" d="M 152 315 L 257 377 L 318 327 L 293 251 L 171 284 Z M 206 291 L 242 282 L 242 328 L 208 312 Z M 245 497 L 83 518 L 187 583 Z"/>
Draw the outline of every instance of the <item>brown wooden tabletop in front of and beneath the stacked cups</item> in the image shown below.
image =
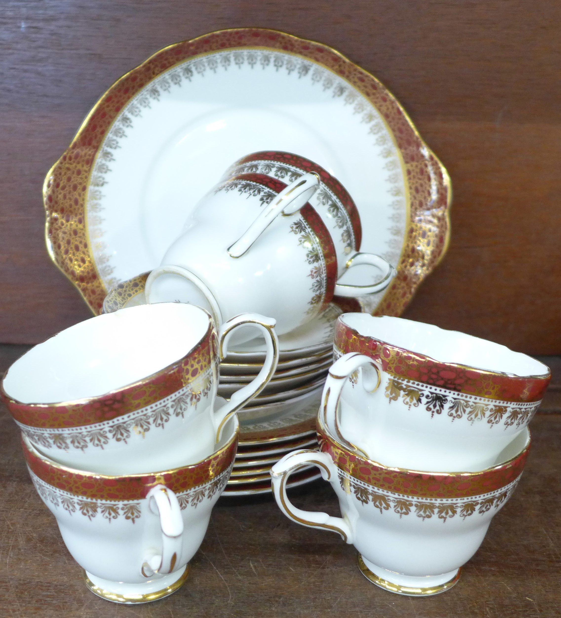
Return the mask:
<path id="1" fill-rule="evenodd" d="M 460 582 L 414 599 L 369 583 L 338 535 L 290 522 L 272 497 L 220 498 L 186 584 L 156 603 L 97 598 L 33 488 L 19 431 L 0 410 L 0 615 L 3 618 L 557 618 L 561 603 L 561 416 L 532 421 L 533 447 L 512 499 L 492 520 Z M 302 509 L 338 515 L 327 483 L 291 491 Z M 80 515 L 78 515 L 80 516 Z"/>

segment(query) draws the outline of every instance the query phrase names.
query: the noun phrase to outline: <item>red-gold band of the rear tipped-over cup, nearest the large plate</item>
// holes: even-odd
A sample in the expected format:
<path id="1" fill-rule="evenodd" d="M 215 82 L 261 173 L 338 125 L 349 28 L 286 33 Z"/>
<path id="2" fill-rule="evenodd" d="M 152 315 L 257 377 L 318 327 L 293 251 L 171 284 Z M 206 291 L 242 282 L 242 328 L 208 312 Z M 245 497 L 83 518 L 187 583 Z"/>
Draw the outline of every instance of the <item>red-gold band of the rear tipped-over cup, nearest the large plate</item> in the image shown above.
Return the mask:
<path id="1" fill-rule="evenodd" d="M 347 192 L 346 188 L 343 187 L 343 185 L 341 185 L 341 183 L 334 176 L 325 171 L 323 167 L 320 167 L 313 161 L 310 161 L 303 156 L 293 155 L 292 153 L 285 153 L 281 151 L 263 151 L 253 153 L 252 155 L 244 156 L 242 159 L 239 159 L 239 161 L 236 161 L 234 166 L 242 165 L 244 163 L 251 163 L 251 161 L 262 160 L 286 163 L 288 165 L 298 167 L 305 174 L 307 172 L 315 172 L 316 174 L 319 174 L 323 184 L 335 194 L 336 198 L 338 198 L 343 205 L 343 208 L 345 208 L 349 221 L 351 222 L 351 226 L 353 226 L 354 248 L 356 251 L 359 250 L 362 241 L 362 227 L 358 209 L 356 208 L 356 204 Z"/>

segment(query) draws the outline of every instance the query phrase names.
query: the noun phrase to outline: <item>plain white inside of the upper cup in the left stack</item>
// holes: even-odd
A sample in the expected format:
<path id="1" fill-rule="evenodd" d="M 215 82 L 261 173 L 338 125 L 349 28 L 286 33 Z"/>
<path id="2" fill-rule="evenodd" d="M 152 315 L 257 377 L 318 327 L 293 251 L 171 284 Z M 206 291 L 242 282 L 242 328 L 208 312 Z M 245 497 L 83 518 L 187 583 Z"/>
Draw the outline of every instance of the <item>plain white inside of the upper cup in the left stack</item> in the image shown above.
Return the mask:
<path id="1" fill-rule="evenodd" d="M 36 345 L 9 368 L 6 393 L 25 404 L 96 397 L 182 358 L 209 316 L 192 305 L 142 305 L 95 316 Z"/>

